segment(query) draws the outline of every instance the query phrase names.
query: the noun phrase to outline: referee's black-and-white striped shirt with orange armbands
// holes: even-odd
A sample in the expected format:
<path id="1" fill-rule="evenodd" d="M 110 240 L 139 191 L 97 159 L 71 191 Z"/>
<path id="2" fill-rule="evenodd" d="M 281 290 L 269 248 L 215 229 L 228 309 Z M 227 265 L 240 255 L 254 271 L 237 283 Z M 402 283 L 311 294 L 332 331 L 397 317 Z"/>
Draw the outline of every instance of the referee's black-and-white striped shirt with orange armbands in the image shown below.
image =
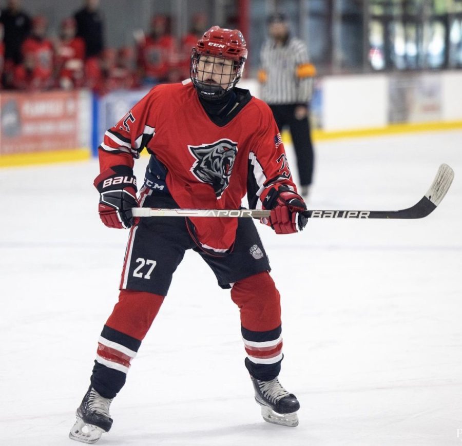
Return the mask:
<path id="1" fill-rule="evenodd" d="M 303 41 L 289 37 L 285 45 L 265 42 L 258 80 L 261 99 L 268 104 L 306 104 L 311 100 L 315 67 L 309 63 Z"/>

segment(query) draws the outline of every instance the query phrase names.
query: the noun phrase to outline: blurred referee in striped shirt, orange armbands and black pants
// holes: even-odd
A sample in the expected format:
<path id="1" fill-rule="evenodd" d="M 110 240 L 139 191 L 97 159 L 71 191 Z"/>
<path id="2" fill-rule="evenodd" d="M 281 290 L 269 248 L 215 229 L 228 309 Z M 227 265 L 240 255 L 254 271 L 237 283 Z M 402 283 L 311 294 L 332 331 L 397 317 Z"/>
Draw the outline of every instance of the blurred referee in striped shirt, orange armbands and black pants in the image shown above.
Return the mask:
<path id="1" fill-rule="evenodd" d="M 308 104 L 316 70 L 308 62 L 305 43 L 290 35 L 284 14 L 275 13 L 267 22 L 270 38 L 261 49 L 258 72 L 261 99 L 271 107 L 279 130 L 290 128 L 301 195 L 306 198 L 314 163 Z"/>

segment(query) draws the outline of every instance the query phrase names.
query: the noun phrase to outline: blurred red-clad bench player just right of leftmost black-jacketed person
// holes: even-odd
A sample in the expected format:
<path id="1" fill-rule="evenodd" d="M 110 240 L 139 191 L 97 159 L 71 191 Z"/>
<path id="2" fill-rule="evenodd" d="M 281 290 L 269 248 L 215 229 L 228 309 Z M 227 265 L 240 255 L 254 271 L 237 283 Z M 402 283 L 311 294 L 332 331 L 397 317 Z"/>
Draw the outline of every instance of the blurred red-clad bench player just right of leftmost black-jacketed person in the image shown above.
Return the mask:
<path id="1" fill-rule="evenodd" d="M 30 58 L 33 57 L 34 88 L 47 89 L 53 86 L 53 60 L 54 48 L 51 41 L 46 38 L 48 22 L 43 15 L 37 15 L 32 20 L 32 31 L 23 42 L 21 51 L 23 57 L 27 55 L 26 68 L 31 70 Z"/>

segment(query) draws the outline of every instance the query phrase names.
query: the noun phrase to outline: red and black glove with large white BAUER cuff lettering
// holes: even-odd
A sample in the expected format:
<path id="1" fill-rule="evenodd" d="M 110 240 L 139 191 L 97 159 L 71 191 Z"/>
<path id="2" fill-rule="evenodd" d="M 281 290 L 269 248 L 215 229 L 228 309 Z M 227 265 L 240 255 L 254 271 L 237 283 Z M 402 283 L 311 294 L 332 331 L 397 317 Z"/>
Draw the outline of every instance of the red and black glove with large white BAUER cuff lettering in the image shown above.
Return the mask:
<path id="1" fill-rule="evenodd" d="M 138 207 L 137 179 L 128 166 L 113 166 L 99 174 L 93 182 L 100 192 L 98 212 L 110 228 L 130 228 L 139 218 L 133 218 L 132 207 Z"/>

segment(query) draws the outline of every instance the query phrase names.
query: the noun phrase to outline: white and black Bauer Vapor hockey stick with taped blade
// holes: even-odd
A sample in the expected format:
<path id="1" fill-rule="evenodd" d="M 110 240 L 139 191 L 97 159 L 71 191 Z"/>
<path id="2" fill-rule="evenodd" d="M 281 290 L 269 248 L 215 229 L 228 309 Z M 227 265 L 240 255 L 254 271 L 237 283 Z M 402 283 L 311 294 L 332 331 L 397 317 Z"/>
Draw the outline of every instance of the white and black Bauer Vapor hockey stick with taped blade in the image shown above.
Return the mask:
<path id="1" fill-rule="evenodd" d="M 441 203 L 451 186 L 454 171 L 447 164 L 439 166 L 425 196 L 414 206 L 402 210 L 306 210 L 307 218 L 405 218 L 427 217 Z M 132 208 L 133 217 L 269 217 L 269 210 L 258 209 L 160 209 Z"/>

